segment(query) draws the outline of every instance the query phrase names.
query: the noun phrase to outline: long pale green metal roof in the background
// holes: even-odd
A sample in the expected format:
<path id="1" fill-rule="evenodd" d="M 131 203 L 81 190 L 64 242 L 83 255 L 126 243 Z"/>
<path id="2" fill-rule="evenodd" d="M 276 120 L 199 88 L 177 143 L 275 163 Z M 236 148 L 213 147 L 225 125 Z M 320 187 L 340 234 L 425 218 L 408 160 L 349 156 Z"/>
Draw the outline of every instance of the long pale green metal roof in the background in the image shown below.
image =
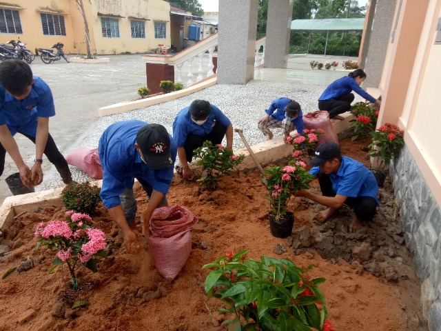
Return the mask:
<path id="1" fill-rule="evenodd" d="M 359 31 L 365 19 L 294 19 L 291 30 L 306 31 Z"/>

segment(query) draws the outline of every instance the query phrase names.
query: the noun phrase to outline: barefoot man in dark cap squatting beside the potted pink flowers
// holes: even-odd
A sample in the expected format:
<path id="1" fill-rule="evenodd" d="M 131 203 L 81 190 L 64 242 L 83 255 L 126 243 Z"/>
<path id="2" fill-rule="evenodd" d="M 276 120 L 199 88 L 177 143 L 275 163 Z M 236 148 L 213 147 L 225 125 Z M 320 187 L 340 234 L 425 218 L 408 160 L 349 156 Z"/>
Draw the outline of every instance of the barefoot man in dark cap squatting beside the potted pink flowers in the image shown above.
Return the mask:
<path id="1" fill-rule="evenodd" d="M 353 209 L 349 231 L 358 230 L 363 222 L 373 219 L 380 205 L 377 199 L 378 184 L 373 172 L 350 157 L 342 157 L 340 146 L 336 143 L 322 143 L 315 154 L 309 162 L 314 167 L 309 173 L 318 178 L 322 195 L 301 190 L 296 197 L 305 197 L 327 206 L 317 215 L 322 222 L 335 214 L 343 203 L 349 205 Z"/>

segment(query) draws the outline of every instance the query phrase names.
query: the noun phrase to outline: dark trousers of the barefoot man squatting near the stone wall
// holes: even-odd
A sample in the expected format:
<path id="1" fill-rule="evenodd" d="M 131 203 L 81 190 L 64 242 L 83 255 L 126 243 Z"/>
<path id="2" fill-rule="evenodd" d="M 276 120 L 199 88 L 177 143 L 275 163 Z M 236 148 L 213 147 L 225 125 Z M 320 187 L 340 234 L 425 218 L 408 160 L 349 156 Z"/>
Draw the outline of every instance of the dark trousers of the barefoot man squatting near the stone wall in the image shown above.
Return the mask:
<path id="1" fill-rule="evenodd" d="M 332 190 L 332 182 L 327 174 L 318 172 L 318 183 L 320 183 L 320 190 L 325 197 L 335 197 L 336 192 Z M 356 217 L 360 221 L 372 221 L 373 216 L 377 212 L 377 203 L 375 199 L 371 197 L 358 197 L 351 198 L 348 197 L 345 201 L 346 205 L 352 208 Z"/>

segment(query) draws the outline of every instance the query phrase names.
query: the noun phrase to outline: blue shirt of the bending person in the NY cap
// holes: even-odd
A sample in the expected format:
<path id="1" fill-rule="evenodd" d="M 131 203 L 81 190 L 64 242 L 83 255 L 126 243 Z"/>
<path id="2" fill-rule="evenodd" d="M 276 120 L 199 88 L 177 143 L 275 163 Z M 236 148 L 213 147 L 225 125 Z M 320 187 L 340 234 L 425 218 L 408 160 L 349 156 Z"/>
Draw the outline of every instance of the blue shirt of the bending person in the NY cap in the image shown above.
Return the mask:
<path id="1" fill-rule="evenodd" d="M 99 139 L 99 159 L 103 165 L 100 196 L 105 208 L 121 204 L 119 194 L 125 188 L 132 188 L 135 178 L 144 179 L 154 190 L 163 194 L 167 194 L 170 188 L 176 161 L 176 142 L 170 136 L 173 164 L 159 170 L 150 169 L 134 146 L 136 134 L 146 124 L 137 119 L 116 122 L 109 126 Z"/>

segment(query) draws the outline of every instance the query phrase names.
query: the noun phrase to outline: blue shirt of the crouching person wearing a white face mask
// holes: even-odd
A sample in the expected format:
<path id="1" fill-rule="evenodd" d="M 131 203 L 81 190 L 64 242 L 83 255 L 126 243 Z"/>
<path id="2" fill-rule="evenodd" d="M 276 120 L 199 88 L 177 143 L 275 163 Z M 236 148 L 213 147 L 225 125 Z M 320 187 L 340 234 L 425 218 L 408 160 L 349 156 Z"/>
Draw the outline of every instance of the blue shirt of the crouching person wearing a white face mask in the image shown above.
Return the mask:
<path id="1" fill-rule="evenodd" d="M 192 116 L 189 113 L 189 107 L 185 107 L 178 112 L 173 122 L 173 137 L 178 144 L 178 147 L 183 147 L 189 134 L 196 134 L 196 136 L 204 137 L 209 132 L 212 132 L 216 121 L 225 127 L 229 127 L 231 122 L 223 112 L 216 106 L 210 105 L 212 112 L 208 115 L 207 121 L 202 126 L 198 126 L 192 120 Z"/>

